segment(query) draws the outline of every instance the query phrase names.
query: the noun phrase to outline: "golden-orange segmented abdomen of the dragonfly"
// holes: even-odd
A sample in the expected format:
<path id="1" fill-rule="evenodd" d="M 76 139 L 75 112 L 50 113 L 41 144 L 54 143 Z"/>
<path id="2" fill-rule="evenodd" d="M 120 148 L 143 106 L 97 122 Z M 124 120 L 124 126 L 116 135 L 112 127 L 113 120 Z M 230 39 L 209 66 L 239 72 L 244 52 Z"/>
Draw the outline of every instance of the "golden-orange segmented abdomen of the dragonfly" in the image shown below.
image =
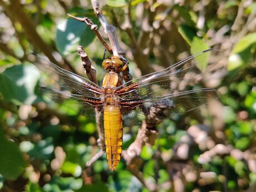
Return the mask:
<path id="1" fill-rule="evenodd" d="M 104 131 L 107 161 L 110 170 L 115 170 L 122 152 L 122 114 L 119 106 L 107 105 L 105 107 Z"/>

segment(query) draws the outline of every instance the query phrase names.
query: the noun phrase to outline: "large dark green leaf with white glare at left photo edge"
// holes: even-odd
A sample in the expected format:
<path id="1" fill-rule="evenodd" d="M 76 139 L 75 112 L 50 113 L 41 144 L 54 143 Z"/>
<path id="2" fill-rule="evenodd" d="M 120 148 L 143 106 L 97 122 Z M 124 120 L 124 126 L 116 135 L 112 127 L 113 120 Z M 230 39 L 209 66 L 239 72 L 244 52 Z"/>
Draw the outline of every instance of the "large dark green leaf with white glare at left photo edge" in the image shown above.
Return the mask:
<path id="1" fill-rule="evenodd" d="M 39 99 L 38 79 L 40 72 L 34 65 L 17 65 L 0 74 L 0 92 L 4 99 L 16 105 L 33 104 Z"/>

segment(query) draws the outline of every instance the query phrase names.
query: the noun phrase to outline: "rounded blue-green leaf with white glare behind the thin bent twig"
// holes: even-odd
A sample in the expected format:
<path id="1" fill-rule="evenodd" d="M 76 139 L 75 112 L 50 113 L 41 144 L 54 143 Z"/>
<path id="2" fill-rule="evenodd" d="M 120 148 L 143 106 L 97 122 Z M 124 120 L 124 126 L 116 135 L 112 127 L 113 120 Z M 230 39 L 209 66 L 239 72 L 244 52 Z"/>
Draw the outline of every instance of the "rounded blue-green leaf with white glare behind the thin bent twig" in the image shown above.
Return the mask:
<path id="1" fill-rule="evenodd" d="M 87 13 L 87 12 L 86 12 Z M 82 14 L 81 10 L 79 14 Z M 85 14 L 82 14 L 83 17 Z M 90 18 L 99 27 L 100 21 L 95 17 Z M 87 47 L 95 39 L 95 34 L 87 24 L 76 21 L 73 18 L 63 19 L 57 25 L 56 46 L 61 55 L 76 52 L 76 47 L 81 45 Z"/>

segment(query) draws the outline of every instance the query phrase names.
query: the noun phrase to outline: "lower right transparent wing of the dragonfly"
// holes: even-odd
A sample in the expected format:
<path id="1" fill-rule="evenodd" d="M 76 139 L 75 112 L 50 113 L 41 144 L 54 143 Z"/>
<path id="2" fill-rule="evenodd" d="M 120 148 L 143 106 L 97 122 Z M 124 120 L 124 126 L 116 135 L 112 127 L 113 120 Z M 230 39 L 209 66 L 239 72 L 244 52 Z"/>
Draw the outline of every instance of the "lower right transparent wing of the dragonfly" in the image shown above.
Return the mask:
<path id="1" fill-rule="evenodd" d="M 175 115 L 196 109 L 212 100 L 218 99 L 221 93 L 211 88 L 183 91 L 155 99 L 128 101 L 122 105 L 122 114 L 125 125 L 140 124 L 145 120 L 156 124 Z M 135 104 L 135 105 L 134 105 Z M 134 108 L 133 108 L 134 107 Z"/>

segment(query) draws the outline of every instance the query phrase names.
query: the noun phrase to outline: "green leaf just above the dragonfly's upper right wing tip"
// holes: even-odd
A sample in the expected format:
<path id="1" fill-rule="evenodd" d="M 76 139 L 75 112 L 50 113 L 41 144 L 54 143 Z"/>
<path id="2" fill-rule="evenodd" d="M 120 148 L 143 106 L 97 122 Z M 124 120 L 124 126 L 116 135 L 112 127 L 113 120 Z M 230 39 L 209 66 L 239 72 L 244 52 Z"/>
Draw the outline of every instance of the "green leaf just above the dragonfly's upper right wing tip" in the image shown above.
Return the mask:
<path id="1" fill-rule="evenodd" d="M 184 40 L 189 44 L 192 54 L 200 51 L 207 50 L 209 48 L 206 43 L 196 35 L 196 30 L 188 25 L 181 24 L 178 27 L 178 31 Z"/>

